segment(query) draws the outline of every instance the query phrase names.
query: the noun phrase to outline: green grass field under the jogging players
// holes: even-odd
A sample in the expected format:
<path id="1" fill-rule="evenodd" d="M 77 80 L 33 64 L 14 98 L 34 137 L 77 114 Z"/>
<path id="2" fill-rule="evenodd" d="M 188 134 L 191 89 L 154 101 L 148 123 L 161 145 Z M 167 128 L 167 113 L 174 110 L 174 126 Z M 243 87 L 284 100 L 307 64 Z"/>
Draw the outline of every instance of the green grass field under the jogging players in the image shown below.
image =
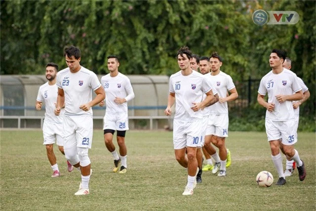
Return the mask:
<path id="1" fill-rule="evenodd" d="M 203 172 L 193 196 L 182 196 L 187 171 L 174 158 L 172 132 L 128 131 L 128 171 L 112 173 L 113 159 L 95 130 L 89 151 L 93 175 L 90 194 L 75 196 L 79 171 L 67 171 L 66 160 L 55 146 L 61 176 L 52 170 L 42 145 L 40 130 L 0 130 L 0 210 L 316 210 L 315 133 L 299 133 L 296 149 L 305 161 L 307 177 L 301 182 L 297 169 L 278 187 L 269 144 L 264 132 L 230 132 L 227 146 L 232 165 L 226 177 Z M 283 164 L 285 159 L 283 158 Z M 283 165 L 285 168 L 285 165 Z M 258 172 L 275 177 L 269 188 L 259 188 Z"/>

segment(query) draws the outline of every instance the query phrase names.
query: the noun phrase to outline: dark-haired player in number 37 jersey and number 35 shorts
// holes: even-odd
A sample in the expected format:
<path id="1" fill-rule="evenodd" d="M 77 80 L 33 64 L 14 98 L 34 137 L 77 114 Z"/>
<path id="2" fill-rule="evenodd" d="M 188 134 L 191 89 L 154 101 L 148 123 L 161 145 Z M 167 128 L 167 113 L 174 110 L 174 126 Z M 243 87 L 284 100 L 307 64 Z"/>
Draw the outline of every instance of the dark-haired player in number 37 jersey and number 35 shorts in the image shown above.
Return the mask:
<path id="1" fill-rule="evenodd" d="M 294 144 L 297 142 L 297 134 L 292 105 L 292 101 L 303 98 L 303 91 L 295 73 L 282 67 L 285 58 L 284 51 L 279 49 L 272 50 L 269 57 L 272 71 L 261 79 L 257 97 L 258 103 L 267 109 L 265 126 L 272 160 L 279 177 L 276 185 L 284 185 L 286 183 L 279 147 L 281 147 L 282 152 L 286 156 L 296 162 L 299 179 L 303 181 L 306 176 L 304 162 L 294 149 Z M 268 102 L 264 99 L 267 93 Z M 282 141 L 281 145 L 280 138 Z"/>

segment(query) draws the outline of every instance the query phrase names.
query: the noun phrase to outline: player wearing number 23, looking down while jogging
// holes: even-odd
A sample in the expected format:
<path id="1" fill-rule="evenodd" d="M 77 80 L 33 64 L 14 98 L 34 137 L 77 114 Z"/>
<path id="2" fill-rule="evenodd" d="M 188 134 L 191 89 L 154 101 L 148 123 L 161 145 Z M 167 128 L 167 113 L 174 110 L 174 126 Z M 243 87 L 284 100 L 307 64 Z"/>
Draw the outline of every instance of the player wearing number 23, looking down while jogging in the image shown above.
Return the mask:
<path id="1" fill-rule="evenodd" d="M 105 92 L 95 73 L 80 65 L 81 52 L 78 47 L 65 47 L 64 56 L 68 68 L 57 75 L 58 97 L 54 112 L 58 116 L 62 105 L 65 104 L 65 155 L 66 159 L 81 171 L 81 183 L 75 195 L 87 195 L 92 173 L 88 157 L 93 135 L 92 106 L 104 100 Z M 94 99 L 92 90 L 96 93 Z"/>

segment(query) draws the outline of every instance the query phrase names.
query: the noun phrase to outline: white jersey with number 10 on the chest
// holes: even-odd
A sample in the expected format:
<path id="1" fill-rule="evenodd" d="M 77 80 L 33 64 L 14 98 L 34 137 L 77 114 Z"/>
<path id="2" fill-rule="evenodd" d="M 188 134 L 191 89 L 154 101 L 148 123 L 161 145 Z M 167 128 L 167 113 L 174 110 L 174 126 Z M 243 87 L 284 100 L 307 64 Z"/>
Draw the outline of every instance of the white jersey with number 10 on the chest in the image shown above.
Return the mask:
<path id="1" fill-rule="evenodd" d="M 203 93 L 212 90 L 206 78 L 193 71 L 188 76 L 183 76 L 181 71 L 170 76 L 169 91 L 175 93 L 176 109 L 175 120 L 196 121 L 203 119 L 201 110 L 194 112 L 191 107 L 193 103 L 199 103 L 203 99 Z"/>

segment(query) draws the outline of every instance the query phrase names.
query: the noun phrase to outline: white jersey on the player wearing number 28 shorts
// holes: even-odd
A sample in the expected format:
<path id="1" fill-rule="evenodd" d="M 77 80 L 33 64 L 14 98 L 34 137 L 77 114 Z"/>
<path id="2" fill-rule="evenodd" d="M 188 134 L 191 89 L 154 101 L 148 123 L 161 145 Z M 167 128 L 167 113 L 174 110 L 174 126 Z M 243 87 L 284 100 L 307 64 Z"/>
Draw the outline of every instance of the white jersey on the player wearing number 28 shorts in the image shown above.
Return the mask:
<path id="1" fill-rule="evenodd" d="M 125 98 L 128 92 L 134 93 L 132 84 L 127 76 L 118 73 L 116 77 L 111 77 L 110 74 L 107 74 L 101 78 L 101 84 L 105 90 L 106 112 L 127 112 L 127 101 L 122 104 L 114 102 L 116 97 Z"/>

